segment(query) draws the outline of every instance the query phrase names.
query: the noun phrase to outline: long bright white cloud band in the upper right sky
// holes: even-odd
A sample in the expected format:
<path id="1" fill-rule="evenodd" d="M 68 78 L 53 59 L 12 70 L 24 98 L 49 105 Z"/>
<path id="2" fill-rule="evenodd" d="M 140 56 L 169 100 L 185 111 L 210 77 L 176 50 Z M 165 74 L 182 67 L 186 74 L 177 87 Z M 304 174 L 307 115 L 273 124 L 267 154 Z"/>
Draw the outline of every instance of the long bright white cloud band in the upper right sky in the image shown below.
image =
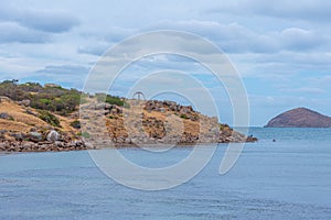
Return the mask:
<path id="1" fill-rule="evenodd" d="M 277 53 L 280 51 L 309 51 L 327 45 L 328 38 L 316 31 L 287 28 L 263 34 L 238 23 L 215 21 L 162 21 L 142 29 L 174 29 L 196 33 L 216 43 L 226 53 Z"/>

